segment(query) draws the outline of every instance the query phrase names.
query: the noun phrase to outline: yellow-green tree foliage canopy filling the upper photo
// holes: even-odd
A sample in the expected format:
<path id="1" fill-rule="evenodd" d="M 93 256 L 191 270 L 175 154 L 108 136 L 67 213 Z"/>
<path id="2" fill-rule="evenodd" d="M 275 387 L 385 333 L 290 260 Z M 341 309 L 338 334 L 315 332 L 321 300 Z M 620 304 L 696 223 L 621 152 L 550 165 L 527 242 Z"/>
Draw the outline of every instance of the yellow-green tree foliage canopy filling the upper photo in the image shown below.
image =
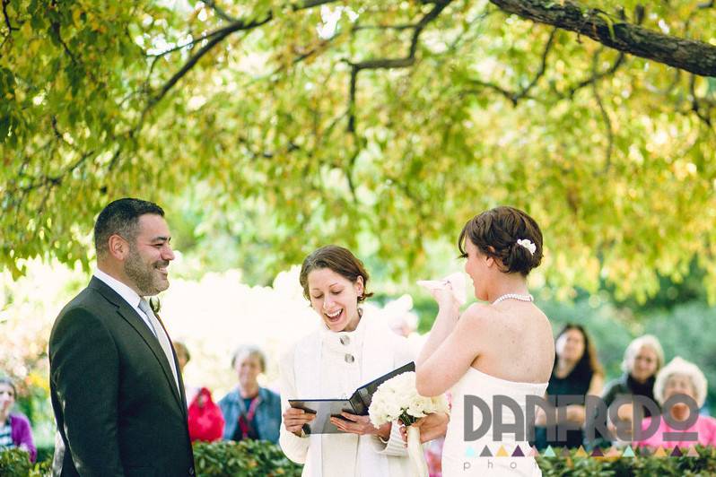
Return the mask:
<path id="1" fill-rule="evenodd" d="M 643 300 L 698 256 L 716 297 L 712 82 L 485 1 L 450 2 L 414 56 L 415 30 L 389 27 L 432 4 L 222 4 L 6 5 L 0 266 L 88 266 L 94 216 L 135 195 L 193 197 L 189 215 L 234 234 L 224 248 L 249 250 L 237 259 L 258 257 L 256 270 L 368 237 L 401 277 L 509 203 L 542 225 L 557 287 L 606 280 Z M 627 21 L 642 8 L 587 6 Z M 645 28 L 716 34 L 716 9 L 645 8 Z M 351 96 L 352 65 L 403 57 L 409 67 L 363 69 Z M 197 227 L 184 243 L 207 235 Z"/>

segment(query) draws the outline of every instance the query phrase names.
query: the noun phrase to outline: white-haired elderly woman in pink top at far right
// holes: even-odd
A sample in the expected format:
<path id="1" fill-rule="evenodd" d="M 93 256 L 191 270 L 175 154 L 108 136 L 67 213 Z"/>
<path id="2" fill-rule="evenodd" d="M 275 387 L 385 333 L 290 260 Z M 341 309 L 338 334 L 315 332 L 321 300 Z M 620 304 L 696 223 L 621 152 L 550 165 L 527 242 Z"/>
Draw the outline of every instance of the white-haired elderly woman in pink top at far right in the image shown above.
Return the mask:
<path id="1" fill-rule="evenodd" d="M 694 363 L 676 357 L 659 371 L 654 384 L 654 396 L 662 406 L 663 414 L 661 416 L 651 416 L 642 422 L 642 430 L 649 429 L 651 421 L 659 420 L 659 428 L 655 433 L 647 433 L 642 440 L 636 441 L 635 445 L 639 447 L 680 447 L 685 448 L 694 444 L 702 446 L 716 446 L 716 419 L 709 416 L 698 415 L 698 410 L 689 409 L 689 406 L 683 402 L 670 404 L 668 408 L 664 404 L 668 398 L 673 395 L 687 395 L 694 399 L 698 407 L 703 406 L 706 399 L 707 389 L 706 377 L 703 372 Z M 696 412 L 694 418 L 691 412 Z M 666 419 L 667 416 L 670 419 Z M 675 429 L 668 421 L 683 422 L 693 420 L 693 424 L 688 429 Z M 693 440 L 671 440 L 664 435 L 668 432 L 695 432 L 696 441 Z"/>

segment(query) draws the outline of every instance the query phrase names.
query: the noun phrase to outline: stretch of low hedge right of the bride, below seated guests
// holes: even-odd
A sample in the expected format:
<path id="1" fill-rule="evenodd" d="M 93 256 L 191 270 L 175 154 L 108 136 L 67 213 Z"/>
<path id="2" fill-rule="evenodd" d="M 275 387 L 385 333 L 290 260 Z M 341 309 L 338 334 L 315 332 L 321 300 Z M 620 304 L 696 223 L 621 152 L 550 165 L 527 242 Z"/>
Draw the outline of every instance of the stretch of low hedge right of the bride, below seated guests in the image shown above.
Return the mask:
<path id="1" fill-rule="evenodd" d="M 570 457 L 537 457 L 537 464 L 545 477 L 570 475 L 573 477 L 600 476 L 634 476 L 652 477 L 654 475 L 689 475 L 709 476 L 716 473 L 716 454 L 714 447 L 696 447 L 698 457 L 621 457 L 594 458 L 575 456 L 572 450 Z M 562 449 L 556 449 L 557 455 Z"/>

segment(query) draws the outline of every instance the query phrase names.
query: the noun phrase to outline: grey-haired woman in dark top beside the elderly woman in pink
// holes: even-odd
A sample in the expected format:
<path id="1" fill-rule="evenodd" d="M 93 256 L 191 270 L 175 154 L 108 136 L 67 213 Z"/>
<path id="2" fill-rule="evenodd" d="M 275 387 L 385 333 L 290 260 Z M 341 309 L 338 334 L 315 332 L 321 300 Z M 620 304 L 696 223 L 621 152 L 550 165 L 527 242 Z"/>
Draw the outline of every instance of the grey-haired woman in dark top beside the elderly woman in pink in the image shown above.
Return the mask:
<path id="1" fill-rule="evenodd" d="M 654 381 L 656 374 L 664 366 L 664 351 L 659 340 L 651 334 L 644 334 L 635 338 L 624 351 L 622 369 L 624 374 L 621 377 L 607 383 L 602 393 L 602 401 L 608 408 L 621 396 L 644 396 L 654 401 Z M 651 410 L 647 407 L 640 407 L 643 410 L 642 417 L 651 416 Z M 633 421 L 633 405 L 623 404 L 619 407 L 619 417 L 623 421 Z M 593 416 L 591 419 L 596 419 Z M 600 419 L 607 419 L 601 416 Z M 612 435 L 616 436 L 616 427 L 609 421 L 608 428 Z M 604 436 L 598 436 L 593 446 L 610 446 L 612 444 Z"/>

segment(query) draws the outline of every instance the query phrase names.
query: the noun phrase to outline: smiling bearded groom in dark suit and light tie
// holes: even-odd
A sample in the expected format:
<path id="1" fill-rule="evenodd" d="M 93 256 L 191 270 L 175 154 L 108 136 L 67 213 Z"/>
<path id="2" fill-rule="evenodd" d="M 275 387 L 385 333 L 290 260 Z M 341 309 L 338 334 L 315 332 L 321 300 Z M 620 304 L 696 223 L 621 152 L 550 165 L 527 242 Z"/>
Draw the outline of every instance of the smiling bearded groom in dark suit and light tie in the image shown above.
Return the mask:
<path id="1" fill-rule="evenodd" d="M 179 363 L 145 297 L 169 287 L 164 211 L 125 198 L 94 226 L 97 270 L 49 339 L 61 475 L 194 475 Z"/>

